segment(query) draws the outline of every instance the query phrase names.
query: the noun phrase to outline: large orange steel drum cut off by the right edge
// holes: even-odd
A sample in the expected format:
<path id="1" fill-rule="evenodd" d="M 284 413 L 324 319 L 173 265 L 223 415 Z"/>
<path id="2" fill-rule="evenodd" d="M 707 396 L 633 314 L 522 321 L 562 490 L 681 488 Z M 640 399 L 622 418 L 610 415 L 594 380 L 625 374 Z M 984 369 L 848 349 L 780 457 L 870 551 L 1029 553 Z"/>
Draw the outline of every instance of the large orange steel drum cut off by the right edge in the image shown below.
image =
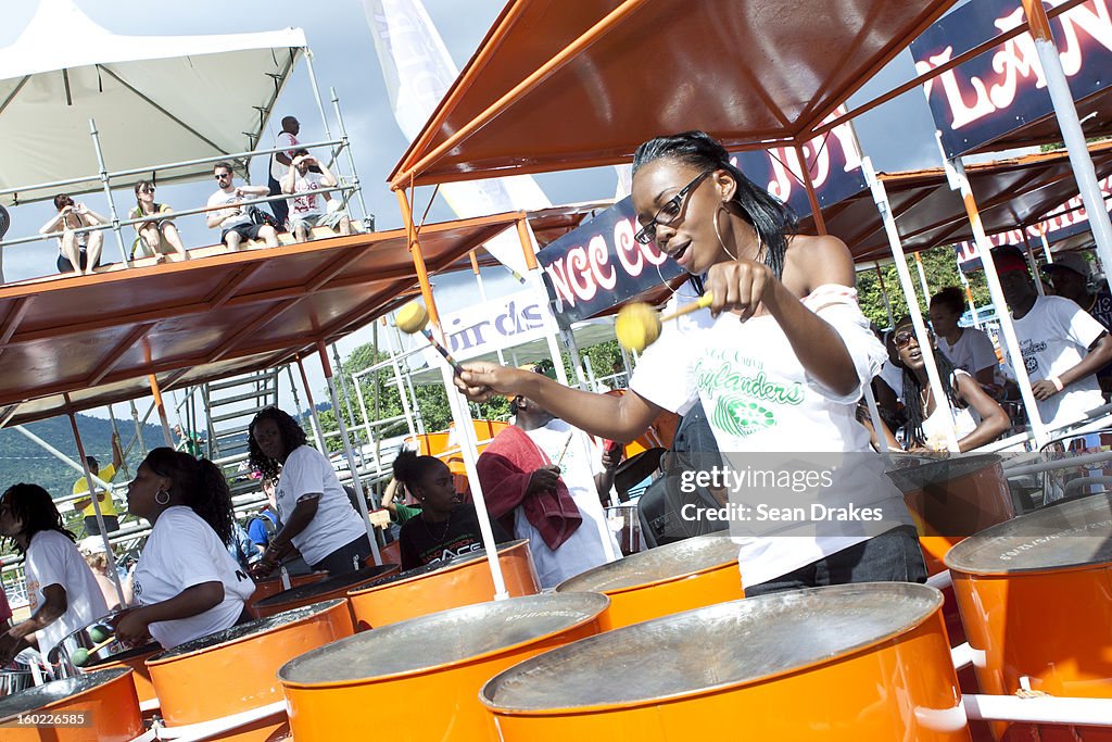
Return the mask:
<path id="1" fill-rule="evenodd" d="M 1022 687 L 1112 698 L 1112 495 L 1089 495 L 1022 515 L 946 556 L 977 681 L 985 693 Z M 1112 740 L 1076 728 L 1074 740 Z M 999 739 L 1033 739 L 995 723 Z"/>

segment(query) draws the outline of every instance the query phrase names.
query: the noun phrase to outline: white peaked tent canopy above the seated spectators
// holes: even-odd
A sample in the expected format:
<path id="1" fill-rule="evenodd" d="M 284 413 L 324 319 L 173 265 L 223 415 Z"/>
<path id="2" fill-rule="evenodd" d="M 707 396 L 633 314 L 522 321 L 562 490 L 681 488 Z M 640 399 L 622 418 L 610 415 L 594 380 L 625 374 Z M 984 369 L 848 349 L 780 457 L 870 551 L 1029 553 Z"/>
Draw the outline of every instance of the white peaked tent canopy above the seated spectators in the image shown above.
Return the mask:
<path id="1" fill-rule="evenodd" d="M 109 171 L 252 149 L 305 50 L 300 29 L 118 36 L 71 0 L 41 0 L 19 39 L 0 49 L 0 189 L 97 175 L 89 119 Z M 201 165 L 159 180 L 210 172 Z M 21 190 L 3 202 L 100 188 Z"/>

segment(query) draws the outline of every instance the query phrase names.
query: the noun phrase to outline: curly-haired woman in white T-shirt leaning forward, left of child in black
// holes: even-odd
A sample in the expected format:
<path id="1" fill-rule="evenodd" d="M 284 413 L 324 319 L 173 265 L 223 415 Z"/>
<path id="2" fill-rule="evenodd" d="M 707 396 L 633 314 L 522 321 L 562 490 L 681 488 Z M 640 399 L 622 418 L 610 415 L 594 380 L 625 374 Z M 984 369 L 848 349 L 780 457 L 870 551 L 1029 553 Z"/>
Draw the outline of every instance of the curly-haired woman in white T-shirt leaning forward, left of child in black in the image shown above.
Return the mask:
<path id="1" fill-rule="evenodd" d="M 351 506 L 328 458 L 306 445 L 305 431 L 292 417 L 267 407 L 248 428 L 251 466 L 264 479 L 278 479 L 275 501 L 284 523 L 270 538 L 258 574 L 268 574 L 297 548 L 314 570 L 347 574 L 370 556 L 363 517 Z"/>

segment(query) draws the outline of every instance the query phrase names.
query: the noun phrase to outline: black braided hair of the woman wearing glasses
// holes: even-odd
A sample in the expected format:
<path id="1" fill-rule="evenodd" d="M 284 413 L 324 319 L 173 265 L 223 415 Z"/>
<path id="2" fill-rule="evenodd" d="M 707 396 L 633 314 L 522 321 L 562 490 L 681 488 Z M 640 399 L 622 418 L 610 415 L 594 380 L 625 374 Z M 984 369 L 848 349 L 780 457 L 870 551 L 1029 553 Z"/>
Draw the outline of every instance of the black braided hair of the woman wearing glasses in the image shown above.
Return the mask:
<path id="1" fill-rule="evenodd" d="M 777 280 L 783 277 L 787 240 L 798 229 L 798 217 L 791 206 L 746 178 L 729 162 L 726 148 L 705 131 L 684 131 L 649 139 L 633 156 L 634 174 L 661 158 L 684 162 L 698 170 L 728 172 L 737 182 L 737 190 L 729 202 L 737 209 L 737 215 L 756 230 L 765 246 L 765 265 Z"/>

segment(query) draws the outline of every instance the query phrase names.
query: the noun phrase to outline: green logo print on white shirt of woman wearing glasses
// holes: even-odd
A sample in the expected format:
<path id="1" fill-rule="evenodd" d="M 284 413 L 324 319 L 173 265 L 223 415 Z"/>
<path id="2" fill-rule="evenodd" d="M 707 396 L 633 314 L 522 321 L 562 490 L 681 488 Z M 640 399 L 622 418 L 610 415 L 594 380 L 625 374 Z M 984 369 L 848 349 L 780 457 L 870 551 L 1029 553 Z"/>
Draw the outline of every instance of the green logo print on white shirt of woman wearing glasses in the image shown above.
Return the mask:
<path id="1" fill-rule="evenodd" d="M 712 362 L 713 369 L 708 368 Z M 736 364 L 761 368 L 757 360 L 738 358 L 736 352 L 727 354 L 723 350 L 709 352 L 696 365 L 698 388 L 715 399 L 711 412 L 712 426 L 744 438 L 775 426 L 776 407 L 803 404 L 802 384 L 770 382 L 764 370 L 745 376 L 735 370 Z"/>

